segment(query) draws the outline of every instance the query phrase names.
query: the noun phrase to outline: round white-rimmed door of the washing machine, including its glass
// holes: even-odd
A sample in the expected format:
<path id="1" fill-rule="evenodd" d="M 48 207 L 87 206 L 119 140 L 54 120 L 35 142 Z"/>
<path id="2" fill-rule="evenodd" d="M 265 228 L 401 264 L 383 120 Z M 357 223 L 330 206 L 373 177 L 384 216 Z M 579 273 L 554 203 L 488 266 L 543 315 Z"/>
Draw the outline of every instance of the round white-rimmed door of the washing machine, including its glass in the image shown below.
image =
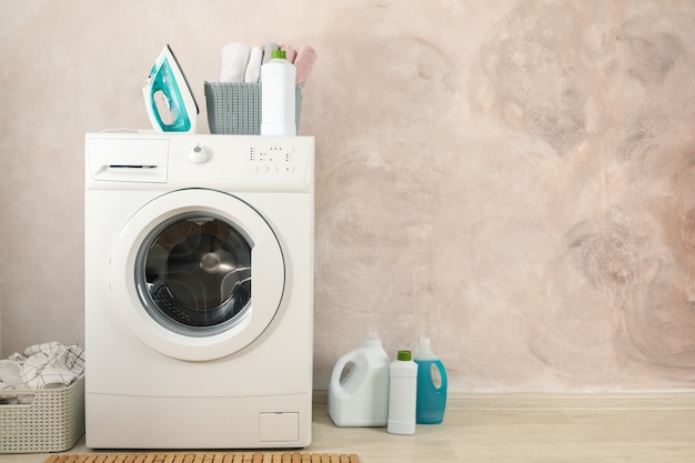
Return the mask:
<path id="1" fill-rule="evenodd" d="M 111 258 L 114 304 L 157 351 L 204 361 L 252 343 L 280 308 L 285 265 L 278 238 L 244 201 L 174 191 L 128 221 Z"/>

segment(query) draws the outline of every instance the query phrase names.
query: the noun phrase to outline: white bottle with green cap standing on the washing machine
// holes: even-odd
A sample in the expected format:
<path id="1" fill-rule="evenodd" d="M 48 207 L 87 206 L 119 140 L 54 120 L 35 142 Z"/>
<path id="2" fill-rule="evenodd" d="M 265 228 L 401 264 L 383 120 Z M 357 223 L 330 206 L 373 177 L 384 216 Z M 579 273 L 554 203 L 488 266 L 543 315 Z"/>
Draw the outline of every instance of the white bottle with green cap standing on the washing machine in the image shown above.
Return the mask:
<path id="1" fill-rule="evenodd" d="M 295 80 L 296 68 L 284 50 L 273 50 L 271 60 L 261 66 L 262 135 L 296 135 Z"/>

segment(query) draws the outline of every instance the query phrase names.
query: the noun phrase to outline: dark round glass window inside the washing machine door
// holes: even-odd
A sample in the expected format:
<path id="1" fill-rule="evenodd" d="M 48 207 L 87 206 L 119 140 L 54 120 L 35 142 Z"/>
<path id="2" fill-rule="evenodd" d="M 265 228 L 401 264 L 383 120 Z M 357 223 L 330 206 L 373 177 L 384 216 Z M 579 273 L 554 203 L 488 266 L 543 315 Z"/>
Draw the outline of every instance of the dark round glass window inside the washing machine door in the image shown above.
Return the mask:
<path id="1" fill-rule="evenodd" d="M 243 319 L 251 303 L 248 236 L 215 214 L 169 219 L 143 241 L 135 286 L 158 323 L 188 335 L 210 335 Z"/>

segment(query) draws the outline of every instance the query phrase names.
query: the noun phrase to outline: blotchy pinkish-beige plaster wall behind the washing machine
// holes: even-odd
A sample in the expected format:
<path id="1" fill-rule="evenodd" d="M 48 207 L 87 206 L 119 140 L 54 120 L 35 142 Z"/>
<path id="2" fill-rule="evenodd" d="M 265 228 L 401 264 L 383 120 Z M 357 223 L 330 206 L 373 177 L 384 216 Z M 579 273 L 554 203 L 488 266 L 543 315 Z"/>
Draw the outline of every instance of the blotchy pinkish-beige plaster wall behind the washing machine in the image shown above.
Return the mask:
<path id="1" fill-rule="evenodd" d="M 83 340 L 83 135 L 169 42 L 312 44 L 315 376 L 377 329 L 452 391 L 695 385 L 695 2 L 0 0 L 2 354 Z M 89 346 L 88 346 L 89 349 Z M 118 346 L 114 346 L 118 349 Z"/>

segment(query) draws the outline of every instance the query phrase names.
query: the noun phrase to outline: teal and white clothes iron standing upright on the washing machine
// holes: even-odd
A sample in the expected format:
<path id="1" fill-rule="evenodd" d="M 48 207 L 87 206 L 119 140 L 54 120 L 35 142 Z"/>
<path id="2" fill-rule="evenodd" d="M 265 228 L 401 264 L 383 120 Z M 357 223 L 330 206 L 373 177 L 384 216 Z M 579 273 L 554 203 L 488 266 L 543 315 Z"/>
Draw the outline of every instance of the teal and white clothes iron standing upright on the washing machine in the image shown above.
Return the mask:
<path id="1" fill-rule="evenodd" d="M 142 93 L 155 131 L 195 133 L 198 102 L 169 44 L 154 61 Z"/>

